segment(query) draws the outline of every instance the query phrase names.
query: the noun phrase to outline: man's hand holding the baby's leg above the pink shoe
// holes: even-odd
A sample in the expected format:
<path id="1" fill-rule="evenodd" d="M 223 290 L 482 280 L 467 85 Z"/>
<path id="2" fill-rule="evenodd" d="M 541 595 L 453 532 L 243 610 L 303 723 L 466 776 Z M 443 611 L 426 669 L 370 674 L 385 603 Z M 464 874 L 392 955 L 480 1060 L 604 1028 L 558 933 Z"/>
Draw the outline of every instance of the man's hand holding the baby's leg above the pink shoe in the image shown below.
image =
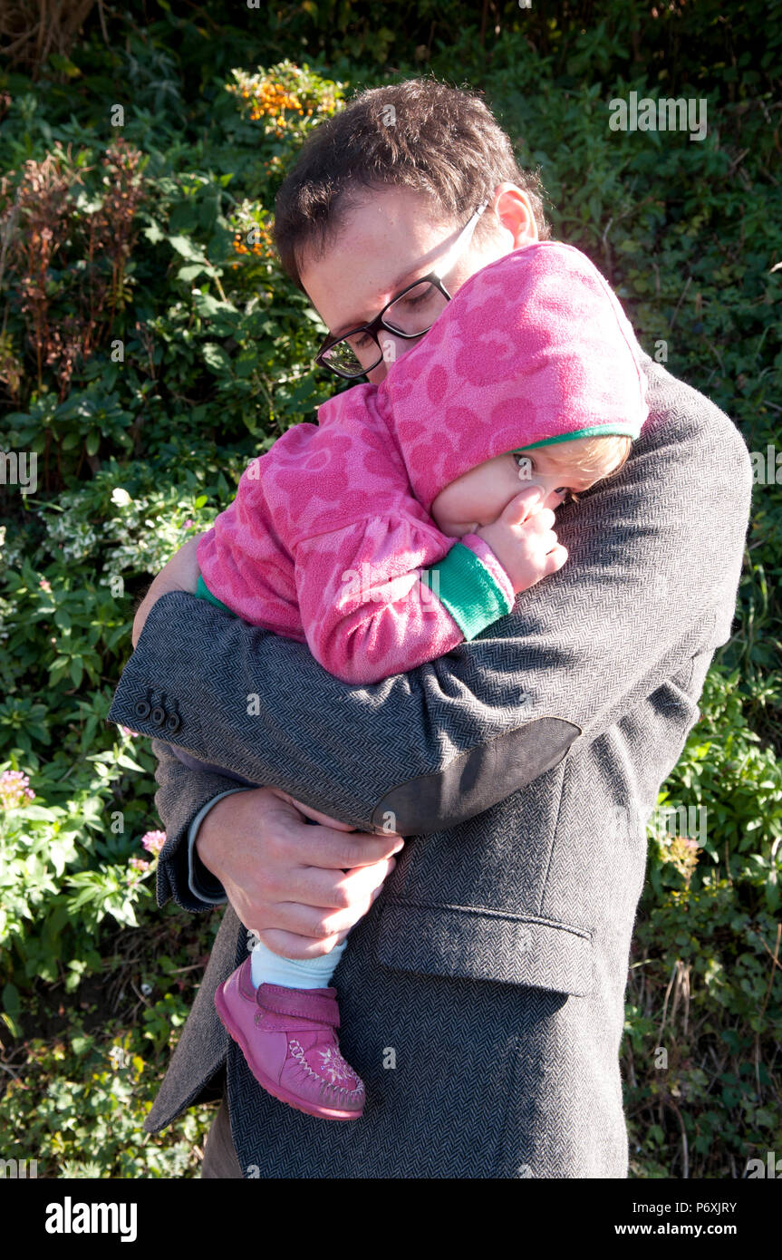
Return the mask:
<path id="1" fill-rule="evenodd" d="M 320 825 L 309 827 L 301 814 Z M 198 830 L 198 856 L 239 920 L 273 954 L 329 954 L 361 919 L 403 845 L 293 801 L 275 788 L 224 796 Z"/>

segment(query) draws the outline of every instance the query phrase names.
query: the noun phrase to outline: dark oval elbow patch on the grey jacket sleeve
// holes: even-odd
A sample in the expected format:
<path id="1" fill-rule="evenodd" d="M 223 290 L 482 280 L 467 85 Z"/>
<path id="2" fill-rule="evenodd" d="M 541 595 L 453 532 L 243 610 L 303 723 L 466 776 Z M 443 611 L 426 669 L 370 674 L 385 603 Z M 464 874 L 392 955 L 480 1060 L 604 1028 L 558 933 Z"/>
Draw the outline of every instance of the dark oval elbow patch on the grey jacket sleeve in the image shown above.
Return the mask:
<path id="1" fill-rule="evenodd" d="M 390 830 L 399 835 L 429 835 L 456 827 L 552 770 L 581 733 L 579 726 L 559 717 L 540 717 L 506 731 L 462 752 L 437 774 L 392 788 L 375 805 L 373 827 L 383 828 L 389 814 L 394 815 Z"/>

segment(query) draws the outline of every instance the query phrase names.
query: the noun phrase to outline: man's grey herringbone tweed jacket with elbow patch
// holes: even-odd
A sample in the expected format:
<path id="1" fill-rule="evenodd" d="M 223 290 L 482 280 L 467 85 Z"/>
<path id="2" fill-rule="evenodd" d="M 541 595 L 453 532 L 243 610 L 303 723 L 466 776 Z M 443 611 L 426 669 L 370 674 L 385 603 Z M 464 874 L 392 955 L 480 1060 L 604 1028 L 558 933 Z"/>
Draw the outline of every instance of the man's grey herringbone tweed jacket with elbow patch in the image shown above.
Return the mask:
<path id="1" fill-rule="evenodd" d="M 253 1080 L 213 1007 L 246 956 L 228 907 L 149 1129 L 225 1070 L 248 1178 L 627 1176 L 618 1048 L 645 824 L 730 634 L 752 486 L 730 420 L 645 370 L 628 462 L 559 510 L 568 563 L 431 664 L 351 687 L 207 601 L 154 606 L 108 719 L 155 741 L 160 905 L 204 908 L 188 828 L 235 786 L 171 743 L 361 830 L 390 814 L 409 839 L 332 982 L 364 1118 L 305 1116 Z"/>

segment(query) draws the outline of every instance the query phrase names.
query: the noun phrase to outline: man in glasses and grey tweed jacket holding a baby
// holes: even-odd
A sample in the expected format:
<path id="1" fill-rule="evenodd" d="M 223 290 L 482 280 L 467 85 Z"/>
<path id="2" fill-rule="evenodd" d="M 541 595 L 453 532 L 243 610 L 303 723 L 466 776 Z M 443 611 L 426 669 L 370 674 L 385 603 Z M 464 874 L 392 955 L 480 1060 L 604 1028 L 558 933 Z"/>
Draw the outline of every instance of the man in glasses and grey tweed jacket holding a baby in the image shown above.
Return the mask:
<path id="1" fill-rule="evenodd" d="M 326 352 L 349 334 L 382 379 L 416 343 L 356 329 L 486 199 L 451 295 L 548 234 L 486 107 L 409 81 L 322 123 L 276 237 Z M 345 685 L 302 644 L 152 583 L 110 721 L 156 737 L 160 905 L 229 902 L 146 1123 L 223 1087 L 204 1177 L 627 1174 L 618 1048 L 645 822 L 730 633 L 752 480 L 732 422 L 643 365 L 650 421 L 616 478 L 559 510 L 565 566 L 409 674 Z M 334 1124 L 257 1086 L 213 995 L 247 929 L 305 958 L 351 927 L 332 983 L 368 1104 Z"/>

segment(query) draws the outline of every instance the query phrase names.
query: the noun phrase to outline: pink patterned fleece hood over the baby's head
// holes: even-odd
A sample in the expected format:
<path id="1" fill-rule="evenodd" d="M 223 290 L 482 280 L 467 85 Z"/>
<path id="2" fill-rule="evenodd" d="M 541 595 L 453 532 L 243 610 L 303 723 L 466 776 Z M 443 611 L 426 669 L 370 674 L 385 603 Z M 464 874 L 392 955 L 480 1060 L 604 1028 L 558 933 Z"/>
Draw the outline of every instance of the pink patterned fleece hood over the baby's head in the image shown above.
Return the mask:
<path id="1" fill-rule="evenodd" d="M 377 402 L 426 512 L 462 474 L 573 437 L 637 437 L 642 350 L 618 299 L 573 246 L 541 241 L 475 272 L 393 364 Z"/>

